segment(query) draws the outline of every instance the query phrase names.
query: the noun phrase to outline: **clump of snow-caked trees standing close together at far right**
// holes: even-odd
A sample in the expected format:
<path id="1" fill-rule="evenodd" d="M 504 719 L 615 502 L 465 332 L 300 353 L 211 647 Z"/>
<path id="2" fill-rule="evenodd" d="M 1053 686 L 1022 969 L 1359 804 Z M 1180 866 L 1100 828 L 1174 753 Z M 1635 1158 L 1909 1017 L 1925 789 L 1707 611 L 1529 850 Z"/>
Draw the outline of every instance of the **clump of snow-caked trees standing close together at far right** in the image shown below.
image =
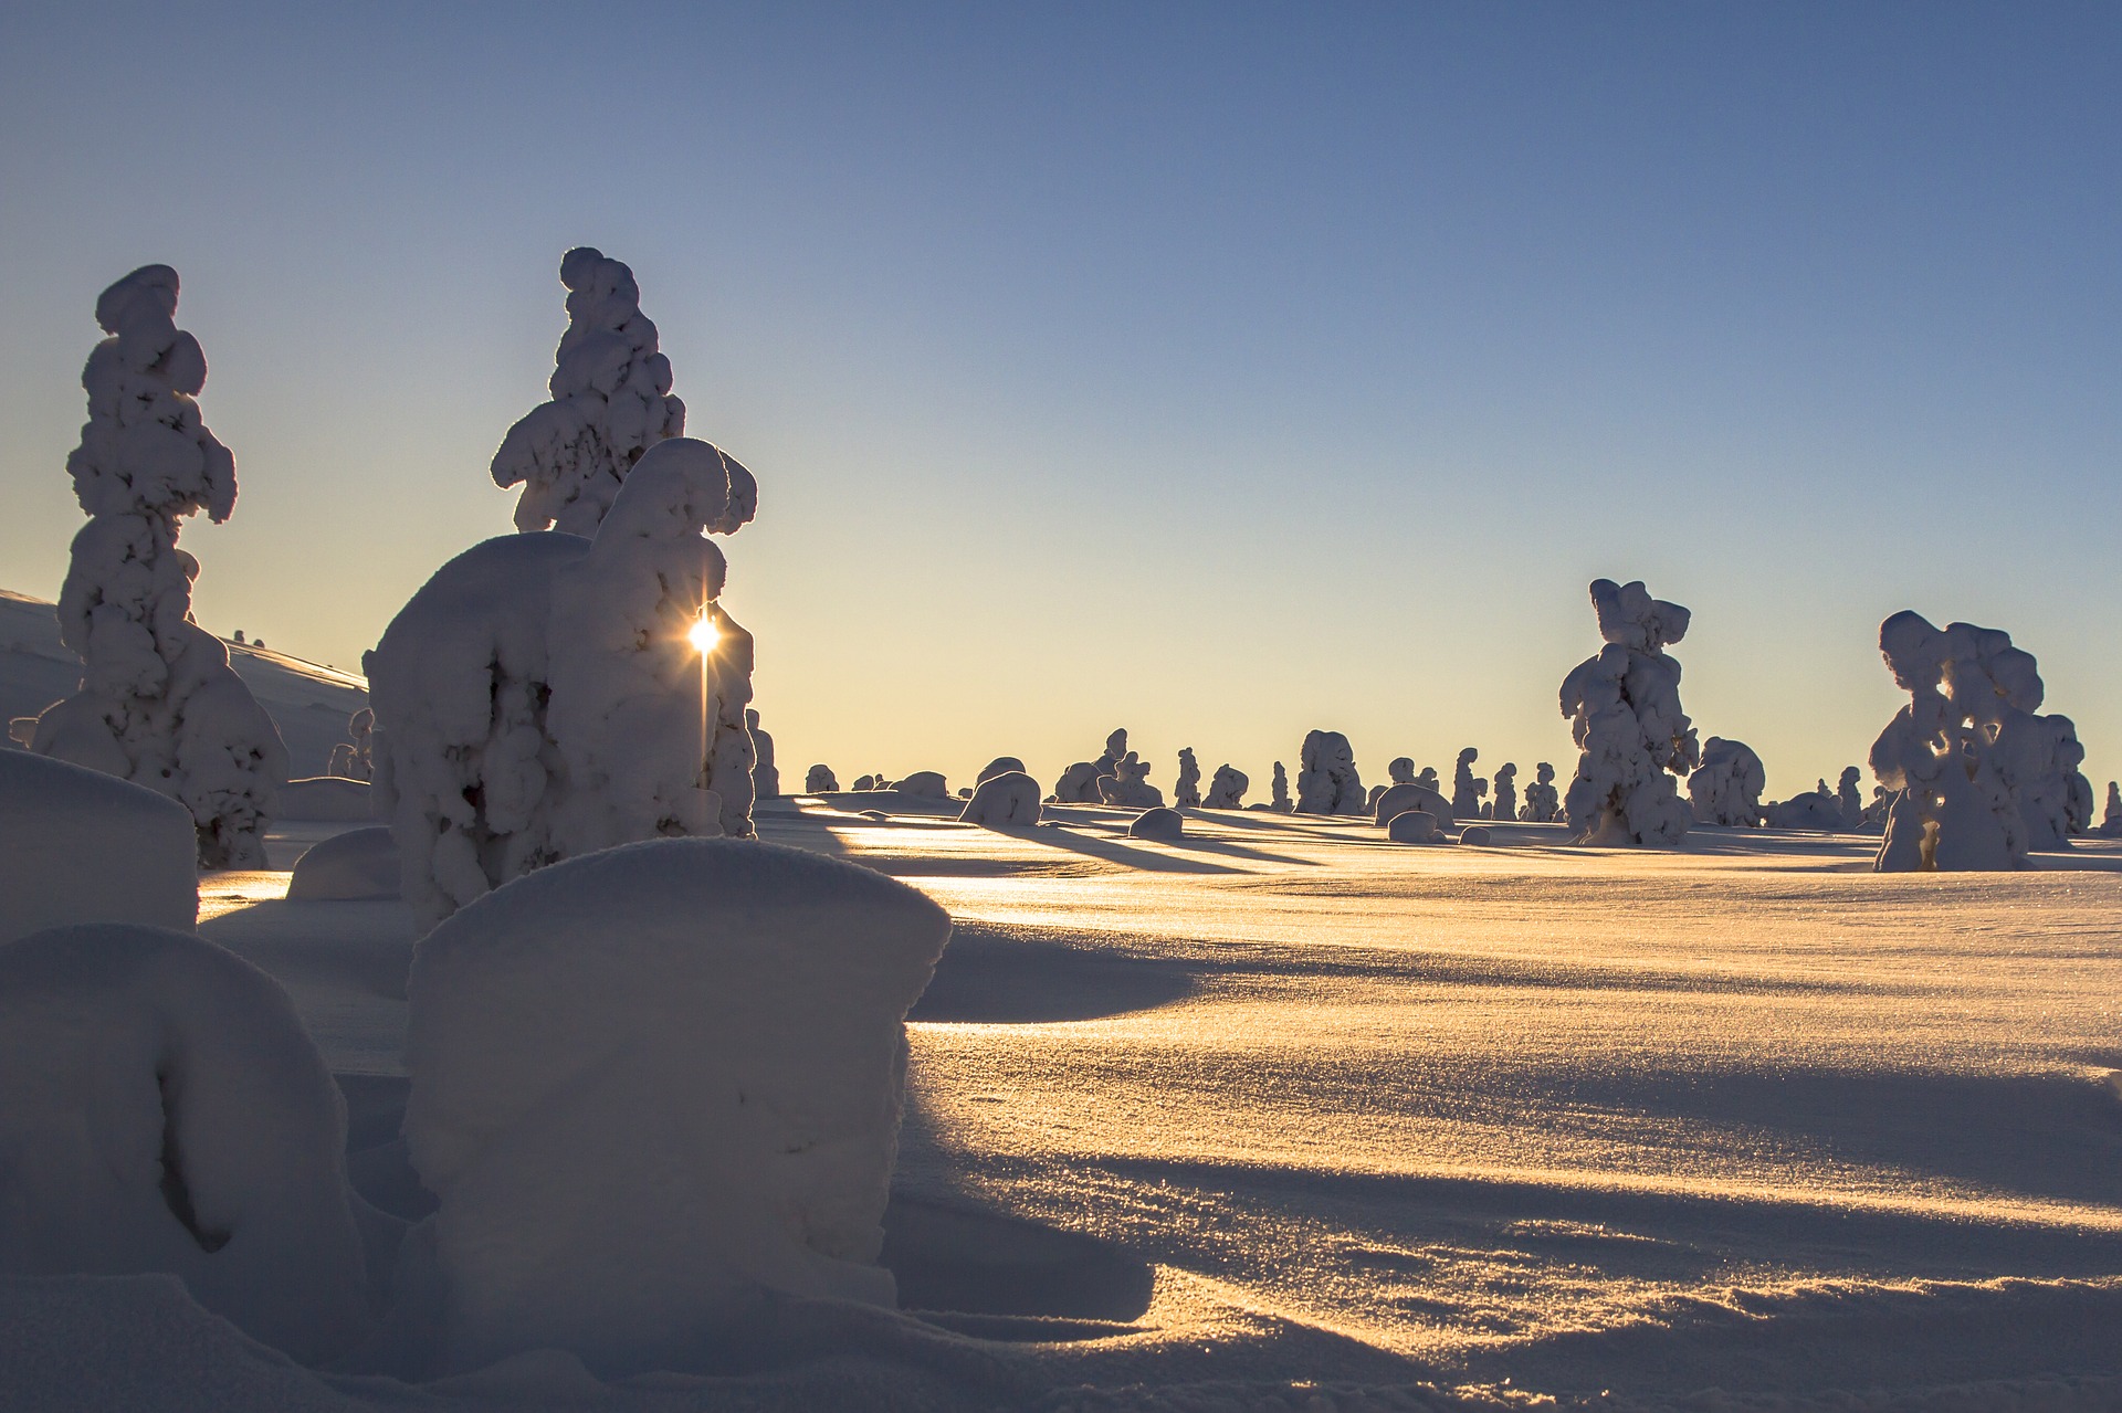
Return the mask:
<path id="1" fill-rule="evenodd" d="M 2048 834 L 2054 819 L 2046 806 L 2067 800 L 2071 785 L 2056 728 L 2033 715 L 2043 696 L 2033 653 L 2012 647 L 2012 634 L 1997 628 L 1935 628 L 1912 609 L 1880 624 L 1878 649 L 1910 702 L 1872 745 L 1872 774 L 1897 791 L 1874 868 L 2024 868 L 2035 842 L 2029 802 L 2041 842 L 2065 847 Z"/>

